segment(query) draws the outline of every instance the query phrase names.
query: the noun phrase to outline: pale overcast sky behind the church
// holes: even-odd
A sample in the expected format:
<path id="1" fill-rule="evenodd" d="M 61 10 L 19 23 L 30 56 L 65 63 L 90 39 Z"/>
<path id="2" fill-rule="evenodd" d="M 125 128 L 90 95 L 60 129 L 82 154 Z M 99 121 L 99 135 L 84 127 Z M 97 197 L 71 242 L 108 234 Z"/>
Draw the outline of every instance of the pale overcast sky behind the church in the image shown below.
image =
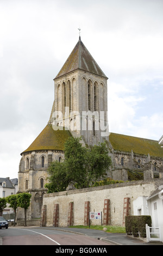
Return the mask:
<path id="1" fill-rule="evenodd" d="M 163 135 L 162 0 L 0 0 L 0 176 L 46 126 L 53 78 L 79 38 L 108 80 L 111 132 Z"/>

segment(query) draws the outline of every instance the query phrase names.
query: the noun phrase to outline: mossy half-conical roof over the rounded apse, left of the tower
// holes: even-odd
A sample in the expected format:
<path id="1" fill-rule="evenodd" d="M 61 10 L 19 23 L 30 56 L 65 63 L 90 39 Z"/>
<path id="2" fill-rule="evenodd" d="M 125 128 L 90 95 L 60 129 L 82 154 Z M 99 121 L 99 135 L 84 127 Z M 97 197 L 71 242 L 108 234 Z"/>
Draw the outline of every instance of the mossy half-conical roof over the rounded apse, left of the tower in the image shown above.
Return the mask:
<path id="1" fill-rule="evenodd" d="M 64 150 L 64 143 L 69 137 L 71 137 L 70 131 L 55 131 L 52 124 L 47 124 L 34 142 L 21 155 L 35 150 Z"/>

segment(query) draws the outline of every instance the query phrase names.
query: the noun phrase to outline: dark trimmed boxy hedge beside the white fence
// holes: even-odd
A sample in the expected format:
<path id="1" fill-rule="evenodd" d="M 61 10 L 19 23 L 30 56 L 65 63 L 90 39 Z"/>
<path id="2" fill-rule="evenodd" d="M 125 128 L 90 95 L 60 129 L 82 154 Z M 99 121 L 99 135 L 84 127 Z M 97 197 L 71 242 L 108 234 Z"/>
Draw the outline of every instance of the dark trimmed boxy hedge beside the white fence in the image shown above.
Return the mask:
<path id="1" fill-rule="evenodd" d="M 125 228 L 127 235 L 132 233 L 133 236 L 138 237 L 140 232 L 141 237 L 146 237 L 146 224 L 149 227 L 152 226 L 152 219 L 149 215 L 126 216 Z"/>

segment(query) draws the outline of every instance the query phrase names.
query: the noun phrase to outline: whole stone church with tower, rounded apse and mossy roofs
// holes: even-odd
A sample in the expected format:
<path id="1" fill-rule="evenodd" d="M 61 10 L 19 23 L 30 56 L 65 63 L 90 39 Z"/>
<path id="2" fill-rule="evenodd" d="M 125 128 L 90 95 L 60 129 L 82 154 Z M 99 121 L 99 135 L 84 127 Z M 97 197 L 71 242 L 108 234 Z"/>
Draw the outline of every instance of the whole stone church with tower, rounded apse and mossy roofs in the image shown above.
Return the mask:
<path id="1" fill-rule="evenodd" d="M 18 192 L 29 192 L 32 200 L 28 218 L 41 216 L 47 169 L 52 161 L 64 160 L 64 143 L 70 136 L 81 136 L 91 145 L 106 141 L 110 149 L 112 179 L 128 180 L 129 172 L 162 172 L 163 154 L 157 141 L 109 134 L 107 111 L 108 77 L 99 68 L 80 36 L 70 56 L 54 78 L 54 102 L 49 121 L 35 141 L 21 153 Z M 23 218 L 17 212 L 17 220 Z"/>

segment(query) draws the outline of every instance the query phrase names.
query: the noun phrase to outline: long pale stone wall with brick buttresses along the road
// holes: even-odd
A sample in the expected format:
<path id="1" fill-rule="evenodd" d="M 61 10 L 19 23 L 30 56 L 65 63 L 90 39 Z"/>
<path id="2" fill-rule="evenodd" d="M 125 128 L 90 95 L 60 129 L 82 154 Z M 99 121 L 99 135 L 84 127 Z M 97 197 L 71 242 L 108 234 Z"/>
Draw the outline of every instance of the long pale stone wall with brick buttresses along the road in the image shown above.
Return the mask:
<path id="1" fill-rule="evenodd" d="M 124 225 L 125 216 L 134 213 L 133 201 L 140 196 L 150 196 L 161 184 L 163 179 L 152 179 L 45 194 L 42 223 L 59 227 L 70 223 L 86 225 L 92 211 L 102 212 L 103 223 Z M 91 224 L 100 225 L 101 220 L 91 220 Z"/>

